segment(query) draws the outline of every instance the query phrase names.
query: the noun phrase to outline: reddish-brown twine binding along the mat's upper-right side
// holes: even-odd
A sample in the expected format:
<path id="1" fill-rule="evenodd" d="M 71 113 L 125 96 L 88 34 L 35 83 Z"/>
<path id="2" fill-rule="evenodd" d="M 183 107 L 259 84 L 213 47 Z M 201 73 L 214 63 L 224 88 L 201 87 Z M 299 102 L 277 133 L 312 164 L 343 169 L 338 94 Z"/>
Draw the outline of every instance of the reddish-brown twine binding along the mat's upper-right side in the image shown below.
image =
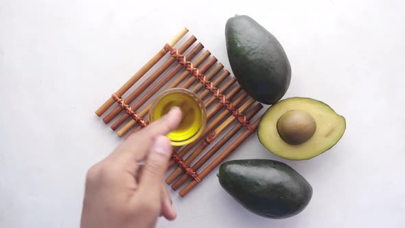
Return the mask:
<path id="1" fill-rule="evenodd" d="M 225 108 L 228 111 L 230 111 L 233 116 L 236 117 L 236 119 L 238 119 L 238 122 L 242 124 L 242 126 L 245 126 L 246 128 L 248 128 L 249 131 L 251 131 L 251 133 L 253 133 L 254 130 L 251 124 L 249 124 L 248 120 L 246 119 L 246 116 L 243 115 L 242 113 L 239 113 L 239 110 L 233 106 L 232 102 L 227 100 L 227 97 L 224 94 L 220 93 L 220 89 L 214 87 L 212 82 L 207 80 L 204 73 L 200 73 L 198 68 L 193 66 L 192 62 L 187 61 L 185 59 L 185 56 L 178 54 L 178 50 L 175 49 L 174 47 L 166 43 L 165 48 L 170 51 L 170 55 L 176 58 L 176 60 L 179 63 L 181 63 L 183 67 L 187 69 L 187 71 L 189 71 L 192 76 L 196 77 L 198 82 L 200 82 L 205 86 L 205 89 L 211 91 L 212 95 L 218 98 L 219 102 L 222 103 L 225 106 Z"/>

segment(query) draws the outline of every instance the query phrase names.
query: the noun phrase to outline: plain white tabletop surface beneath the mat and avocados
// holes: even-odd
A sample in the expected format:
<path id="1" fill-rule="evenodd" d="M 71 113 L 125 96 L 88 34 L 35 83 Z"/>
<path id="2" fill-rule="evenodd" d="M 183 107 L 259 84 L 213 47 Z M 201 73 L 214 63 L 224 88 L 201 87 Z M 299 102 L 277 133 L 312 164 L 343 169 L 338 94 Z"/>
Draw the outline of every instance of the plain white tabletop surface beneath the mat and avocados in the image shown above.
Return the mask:
<path id="1" fill-rule="evenodd" d="M 405 227 L 404 1 L 0 2 L 0 227 L 78 227 L 84 174 L 119 144 L 94 111 L 181 27 L 227 69 L 224 25 L 248 14 L 292 65 L 285 98 L 347 119 L 332 150 L 285 161 L 314 188 L 298 216 L 240 207 L 216 170 L 158 227 Z M 208 16 L 209 15 L 209 16 Z M 284 161 L 250 137 L 229 159 Z"/>

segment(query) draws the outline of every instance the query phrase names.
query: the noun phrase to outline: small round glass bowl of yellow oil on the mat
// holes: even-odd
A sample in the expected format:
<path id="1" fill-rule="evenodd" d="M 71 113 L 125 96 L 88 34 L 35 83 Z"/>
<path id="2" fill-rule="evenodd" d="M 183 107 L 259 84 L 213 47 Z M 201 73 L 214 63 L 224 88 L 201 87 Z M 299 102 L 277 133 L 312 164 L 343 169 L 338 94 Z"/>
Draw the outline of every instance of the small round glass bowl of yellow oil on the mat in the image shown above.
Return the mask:
<path id="1" fill-rule="evenodd" d="M 167 114 L 172 107 L 181 109 L 183 117 L 178 127 L 167 137 L 173 146 L 183 146 L 198 139 L 207 124 L 207 111 L 203 101 L 188 89 L 167 89 L 157 96 L 149 109 L 149 122 L 152 123 Z"/>

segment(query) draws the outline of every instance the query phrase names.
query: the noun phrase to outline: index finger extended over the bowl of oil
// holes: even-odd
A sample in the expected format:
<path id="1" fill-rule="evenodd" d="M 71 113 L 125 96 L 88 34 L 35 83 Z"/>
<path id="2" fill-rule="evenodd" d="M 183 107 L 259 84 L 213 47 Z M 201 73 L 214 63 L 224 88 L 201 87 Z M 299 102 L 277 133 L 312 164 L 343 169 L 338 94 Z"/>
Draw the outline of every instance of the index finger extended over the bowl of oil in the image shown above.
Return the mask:
<path id="1" fill-rule="evenodd" d="M 159 135 L 167 135 L 176 129 L 181 122 L 181 110 L 174 107 L 155 122 L 152 122 L 146 128 L 130 135 L 128 139 L 122 142 L 117 148 L 117 153 L 123 156 L 124 160 L 143 161 L 145 159 L 151 144 Z"/>

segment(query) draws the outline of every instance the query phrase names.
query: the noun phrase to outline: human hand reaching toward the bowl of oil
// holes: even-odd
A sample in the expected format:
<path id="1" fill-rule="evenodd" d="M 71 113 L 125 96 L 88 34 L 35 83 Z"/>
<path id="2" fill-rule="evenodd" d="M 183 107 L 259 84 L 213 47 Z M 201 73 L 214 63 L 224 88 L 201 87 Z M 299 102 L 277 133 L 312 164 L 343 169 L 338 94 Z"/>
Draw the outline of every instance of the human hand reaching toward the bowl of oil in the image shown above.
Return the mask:
<path id="1" fill-rule="evenodd" d="M 178 126 L 181 115 L 172 109 L 89 169 L 81 228 L 151 228 L 159 216 L 176 218 L 163 182 L 172 154 L 165 135 Z"/>

